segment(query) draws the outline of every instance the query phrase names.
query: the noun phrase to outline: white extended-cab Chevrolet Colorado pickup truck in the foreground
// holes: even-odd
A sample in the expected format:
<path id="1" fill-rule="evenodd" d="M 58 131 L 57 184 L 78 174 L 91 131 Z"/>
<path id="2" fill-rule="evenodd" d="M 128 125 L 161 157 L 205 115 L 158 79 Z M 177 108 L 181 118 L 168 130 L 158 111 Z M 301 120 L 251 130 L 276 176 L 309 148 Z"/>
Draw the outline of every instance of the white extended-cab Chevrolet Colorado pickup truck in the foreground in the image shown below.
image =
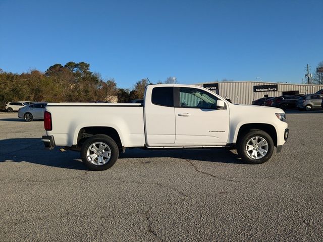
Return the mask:
<path id="1" fill-rule="evenodd" d="M 288 138 L 286 114 L 273 107 L 236 105 L 198 86 L 146 88 L 143 104 L 48 103 L 47 149 L 81 151 L 91 170 L 113 166 L 126 148 L 236 148 L 247 163 L 260 164 Z"/>

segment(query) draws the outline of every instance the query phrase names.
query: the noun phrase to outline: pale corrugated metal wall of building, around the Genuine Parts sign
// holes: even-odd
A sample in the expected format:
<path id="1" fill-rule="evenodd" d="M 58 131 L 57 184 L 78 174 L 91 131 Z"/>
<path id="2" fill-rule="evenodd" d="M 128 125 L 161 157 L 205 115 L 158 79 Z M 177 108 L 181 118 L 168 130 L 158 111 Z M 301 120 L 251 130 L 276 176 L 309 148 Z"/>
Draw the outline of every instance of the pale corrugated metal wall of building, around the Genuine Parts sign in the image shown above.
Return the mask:
<path id="1" fill-rule="evenodd" d="M 304 84 L 287 84 L 287 83 L 272 83 L 272 82 L 208 82 L 219 83 L 219 95 L 224 98 L 230 98 L 233 103 L 251 104 L 253 100 L 264 97 L 267 94 L 269 97 L 279 97 L 283 92 L 298 91 L 299 94 L 311 94 L 320 89 L 323 85 L 304 85 Z M 203 86 L 204 83 L 196 84 Z M 278 85 L 278 91 L 274 92 L 253 92 L 253 86 L 262 85 Z"/>

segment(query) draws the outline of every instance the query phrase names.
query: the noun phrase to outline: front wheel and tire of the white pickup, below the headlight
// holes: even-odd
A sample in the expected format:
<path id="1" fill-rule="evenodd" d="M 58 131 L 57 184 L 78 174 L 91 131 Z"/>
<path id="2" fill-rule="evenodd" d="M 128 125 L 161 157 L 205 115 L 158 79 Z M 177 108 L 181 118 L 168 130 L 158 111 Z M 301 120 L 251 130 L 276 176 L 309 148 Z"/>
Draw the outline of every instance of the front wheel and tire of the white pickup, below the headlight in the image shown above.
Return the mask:
<path id="1" fill-rule="evenodd" d="M 264 145 L 258 146 L 259 144 Z M 274 141 L 270 135 L 262 130 L 250 130 L 239 138 L 237 152 L 245 162 L 261 164 L 272 157 Z"/>

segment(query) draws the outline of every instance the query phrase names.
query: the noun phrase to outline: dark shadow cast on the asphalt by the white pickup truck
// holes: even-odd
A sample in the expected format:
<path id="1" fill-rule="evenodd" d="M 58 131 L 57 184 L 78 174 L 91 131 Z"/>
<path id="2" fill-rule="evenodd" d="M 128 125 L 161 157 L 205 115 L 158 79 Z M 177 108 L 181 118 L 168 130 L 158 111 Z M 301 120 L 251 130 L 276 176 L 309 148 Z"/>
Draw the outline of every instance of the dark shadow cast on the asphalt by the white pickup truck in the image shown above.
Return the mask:
<path id="1" fill-rule="evenodd" d="M 196 161 L 208 161 L 219 163 L 241 164 L 243 161 L 237 154 L 224 149 L 200 149 L 200 150 L 142 150 L 127 149 L 126 153 L 120 154 L 119 159 L 131 158 L 155 158 L 170 157 Z M 51 167 L 87 170 L 80 160 L 80 153 L 67 151 L 63 154 L 59 148 L 48 151 L 40 138 L 21 138 L 0 140 L 0 163 L 1 162 L 28 162 Z M 151 163 L 147 159 L 140 161 L 141 164 Z"/>

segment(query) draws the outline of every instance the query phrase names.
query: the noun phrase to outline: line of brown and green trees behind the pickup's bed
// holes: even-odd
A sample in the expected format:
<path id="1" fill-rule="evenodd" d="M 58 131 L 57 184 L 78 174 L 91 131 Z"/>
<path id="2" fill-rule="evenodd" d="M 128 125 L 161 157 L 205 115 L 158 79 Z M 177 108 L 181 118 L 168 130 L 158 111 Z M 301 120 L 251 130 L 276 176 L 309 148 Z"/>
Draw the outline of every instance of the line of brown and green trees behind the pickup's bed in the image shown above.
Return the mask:
<path id="1" fill-rule="evenodd" d="M 22 74 L 0 69 L 0 101 L 88 102 L 111 101 L 117 96 L 119 102 L 129 102 L 143 98 L 147 84 L 142 79 L 133 90 L 118 88 L 114 79 L 103 80 L 85 62 L 55 64 L 45 72 L 31 70 Z"/>

